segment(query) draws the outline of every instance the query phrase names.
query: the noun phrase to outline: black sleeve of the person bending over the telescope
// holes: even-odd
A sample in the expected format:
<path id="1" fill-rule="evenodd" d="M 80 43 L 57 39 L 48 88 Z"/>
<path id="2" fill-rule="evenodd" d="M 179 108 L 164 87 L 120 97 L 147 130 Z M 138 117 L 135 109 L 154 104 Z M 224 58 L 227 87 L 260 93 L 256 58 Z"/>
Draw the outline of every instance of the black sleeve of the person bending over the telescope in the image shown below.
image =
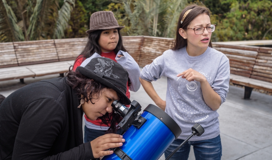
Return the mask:
<path id="1" fill-rule="evenodd" d="M 90 142 L 48 156 L 65 123 L 66 114 L 58 101 L 44 98 L 28 104 L 22 111 L 12 159 L 93 159 Z"/>

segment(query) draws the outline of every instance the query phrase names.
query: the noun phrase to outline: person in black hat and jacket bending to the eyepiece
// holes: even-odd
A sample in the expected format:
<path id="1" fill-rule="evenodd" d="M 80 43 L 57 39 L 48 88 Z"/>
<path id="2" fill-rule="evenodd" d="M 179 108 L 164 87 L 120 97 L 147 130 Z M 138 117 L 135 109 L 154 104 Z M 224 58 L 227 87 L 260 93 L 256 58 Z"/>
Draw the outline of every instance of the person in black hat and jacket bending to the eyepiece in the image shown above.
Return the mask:
<path id="1" fill-rule="evenodd" d="M 125 142 L 116 132 L 116 99 L 124 104 L 128 72 L 115 61 L 93 58 L 64 78 L 34 82 L 0 104 L 0 159 L 83 159 L 110 155 Z M 110 134 L 83 143 L 82 118 L 112 124 Z"/>

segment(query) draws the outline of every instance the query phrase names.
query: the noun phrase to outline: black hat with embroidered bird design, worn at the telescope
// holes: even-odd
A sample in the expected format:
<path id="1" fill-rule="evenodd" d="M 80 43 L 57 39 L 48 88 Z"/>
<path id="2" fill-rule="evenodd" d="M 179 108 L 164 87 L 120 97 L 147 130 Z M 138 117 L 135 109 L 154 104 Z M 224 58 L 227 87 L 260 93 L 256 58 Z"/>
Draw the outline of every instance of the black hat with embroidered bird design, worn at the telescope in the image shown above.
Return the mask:
<path id="1" fill-rule="evenodd" d="M 82 75 L 120 93 L 124 97 L 126 105 L 131 103 L 126 96 L 128 72 L 114 60 L 105 57 L 96 57 L 91 59 L 85 67 L 79 66 L 76 70 Z"/>

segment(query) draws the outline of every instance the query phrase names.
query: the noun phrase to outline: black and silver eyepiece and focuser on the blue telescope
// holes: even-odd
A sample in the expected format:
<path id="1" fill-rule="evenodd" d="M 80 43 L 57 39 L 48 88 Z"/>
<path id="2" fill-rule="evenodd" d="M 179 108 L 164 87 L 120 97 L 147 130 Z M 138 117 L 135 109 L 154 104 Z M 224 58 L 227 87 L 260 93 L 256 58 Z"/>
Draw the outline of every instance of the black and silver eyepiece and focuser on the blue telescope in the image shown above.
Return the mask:
<path id="1" fill-rule="evenodd" d="M 114 113 L 120 114 L 123 118 L 118 126 L 123 130 L 125 130 L 127 126 L 130 127 L 131 125 L 134 125 L 140 129 L 146 121 L 141 114 L 138 115 L 138 113 L 141 111 L 141 105 L 135 100 L 133 100 L 130 105 L 131 106 L 128 108 L 117 100 L 112 102 Z"/>

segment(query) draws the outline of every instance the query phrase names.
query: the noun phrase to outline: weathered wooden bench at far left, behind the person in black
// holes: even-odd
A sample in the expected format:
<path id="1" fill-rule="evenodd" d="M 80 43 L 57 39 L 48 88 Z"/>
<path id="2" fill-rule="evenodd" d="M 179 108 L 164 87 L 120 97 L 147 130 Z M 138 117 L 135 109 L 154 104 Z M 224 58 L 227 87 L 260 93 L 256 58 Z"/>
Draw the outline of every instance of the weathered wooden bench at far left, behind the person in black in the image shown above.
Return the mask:
<path id="1" fill-rule="evenodd" d="M 0 81 L 20 79 L 23 83 L 27 77 L 63 76 L 84 43 L 82 38 L 0 43 Z"/>

